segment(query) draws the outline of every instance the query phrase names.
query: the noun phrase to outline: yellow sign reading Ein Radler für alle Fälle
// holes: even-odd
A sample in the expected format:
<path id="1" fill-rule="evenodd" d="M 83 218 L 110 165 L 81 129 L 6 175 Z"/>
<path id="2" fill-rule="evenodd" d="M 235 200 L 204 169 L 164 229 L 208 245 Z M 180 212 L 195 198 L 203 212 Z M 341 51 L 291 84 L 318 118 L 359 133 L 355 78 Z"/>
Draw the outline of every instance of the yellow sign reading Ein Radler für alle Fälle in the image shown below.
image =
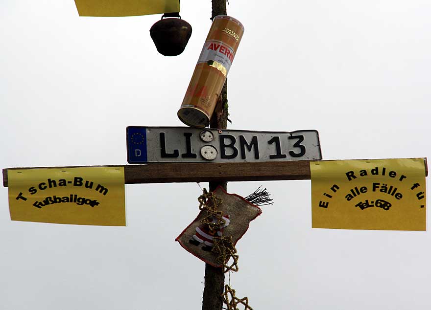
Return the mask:
<path id="1" fill-rule="evenodd" d="M 426 230 L 424 158 L 313 161 L 313 228 Z"/>

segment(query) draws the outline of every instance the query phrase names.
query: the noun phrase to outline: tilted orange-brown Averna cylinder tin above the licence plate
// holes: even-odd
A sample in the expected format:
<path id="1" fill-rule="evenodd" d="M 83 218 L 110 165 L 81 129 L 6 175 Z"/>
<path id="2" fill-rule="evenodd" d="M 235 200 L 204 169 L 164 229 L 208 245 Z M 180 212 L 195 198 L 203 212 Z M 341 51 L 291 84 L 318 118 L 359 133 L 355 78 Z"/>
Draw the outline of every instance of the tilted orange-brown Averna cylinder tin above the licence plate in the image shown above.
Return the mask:
<path id="1" fill-rule="evenodd" d="M 218 97 L 241 41 L 244 27 L 233 17 L 217 15 L 200 53 L 178 118 L 186 125 L 210 124 Z"/>

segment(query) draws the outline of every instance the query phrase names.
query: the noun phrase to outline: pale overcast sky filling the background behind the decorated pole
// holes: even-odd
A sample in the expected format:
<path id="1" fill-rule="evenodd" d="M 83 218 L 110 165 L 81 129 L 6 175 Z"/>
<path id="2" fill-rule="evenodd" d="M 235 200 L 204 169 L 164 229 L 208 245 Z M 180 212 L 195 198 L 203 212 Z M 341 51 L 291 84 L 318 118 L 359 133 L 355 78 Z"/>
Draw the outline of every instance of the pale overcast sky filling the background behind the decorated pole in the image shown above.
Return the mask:
<path id="1" fill-rule="evenodd" d="M 172 58 L 149 36 L 160 15 L 0 5 L 1 168 L 126 164 L 126 126 L 183 126 L 209 0 L 181 1 L 193 33 Z M 324 159 L 430 157 L 429 0 L 230 0 L 228 15 L 245 26 L 229 128 L 315 129 Z M 309 180 L 228 191 L 259 185 L 275 203 L 237 244 L 231 275 L 255 310 L 430 309 L 429 232 L 311 229 Z M 199 194 L 196 183 L 127 185 L 128 226 L 93 227 L 10 221 L 3 188 L 0 308 L 200 309 L 205 264 L 174 242 Z"/>

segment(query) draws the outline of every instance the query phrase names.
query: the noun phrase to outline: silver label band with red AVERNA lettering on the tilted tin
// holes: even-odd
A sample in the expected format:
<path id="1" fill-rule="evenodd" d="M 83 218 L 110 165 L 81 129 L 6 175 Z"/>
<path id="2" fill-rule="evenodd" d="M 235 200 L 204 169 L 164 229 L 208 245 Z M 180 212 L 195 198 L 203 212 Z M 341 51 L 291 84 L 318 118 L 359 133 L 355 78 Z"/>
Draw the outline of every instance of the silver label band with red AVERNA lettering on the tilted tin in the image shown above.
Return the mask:
<path id="1" fill-rule="evenodd" d="M 220 41 L 209 40 L 205 42 L 197 63 L 208 63 L 209 66 L 215 67 L 224 76 L 227 76 L 234 57 L 235 52 L 229 45 Z"/>

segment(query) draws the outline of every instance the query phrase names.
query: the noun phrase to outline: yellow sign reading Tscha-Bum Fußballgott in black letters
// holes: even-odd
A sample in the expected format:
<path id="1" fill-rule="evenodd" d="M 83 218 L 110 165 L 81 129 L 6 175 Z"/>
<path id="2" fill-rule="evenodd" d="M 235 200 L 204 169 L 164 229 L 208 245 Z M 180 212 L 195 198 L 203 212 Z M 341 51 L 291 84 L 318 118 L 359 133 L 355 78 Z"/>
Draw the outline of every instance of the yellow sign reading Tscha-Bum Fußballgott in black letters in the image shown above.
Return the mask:
<path id="1" fill-rule="evenodd" d="M 125 226 L 124 168 L 8 169 L 12 221 Z"/>

